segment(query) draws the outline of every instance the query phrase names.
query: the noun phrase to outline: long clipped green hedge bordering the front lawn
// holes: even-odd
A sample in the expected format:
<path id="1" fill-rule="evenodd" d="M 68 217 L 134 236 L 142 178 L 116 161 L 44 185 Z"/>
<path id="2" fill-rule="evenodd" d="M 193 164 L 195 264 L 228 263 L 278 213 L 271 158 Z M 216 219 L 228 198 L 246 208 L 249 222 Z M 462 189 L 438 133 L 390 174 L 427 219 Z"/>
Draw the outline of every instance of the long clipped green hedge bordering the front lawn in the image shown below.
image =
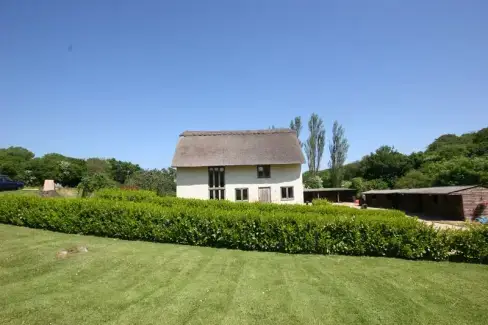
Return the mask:
<path id="1" fill-rule="evenodd" d="M 483 263 L 488 256 L 488 228 L 436 231 L 413 218 L 377 220 L 7 195 L 0 200 L 0 222 L 65 233 L 284 253 Z"/>

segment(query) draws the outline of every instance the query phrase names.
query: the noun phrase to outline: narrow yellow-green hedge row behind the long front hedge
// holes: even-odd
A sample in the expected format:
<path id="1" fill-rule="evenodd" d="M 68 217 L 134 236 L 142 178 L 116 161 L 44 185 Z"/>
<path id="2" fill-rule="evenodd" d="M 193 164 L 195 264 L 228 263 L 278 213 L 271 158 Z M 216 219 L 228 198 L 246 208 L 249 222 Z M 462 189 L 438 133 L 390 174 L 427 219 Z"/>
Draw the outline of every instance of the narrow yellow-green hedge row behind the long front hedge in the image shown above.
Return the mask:
<path id="1" fill-rule="evenodd" d="M 398 210 L 360 210 L 332 204 L 273 204 L 260 202 L 230 202 L 226 200 L 198 200 L 176 197 L 160 197 L 150 191 L 124 191 L 120 189 L 103 189 L 95 193 L 96 197 L 115 200 L 154 203 L 164 207 L 191 207 L 202 209 L 219 209 L 226 211 L 255 211 L 276 213 L 319 213 L 341 217 L 367 216 L 375 219 L 405 218 L 405 213 Z"/>

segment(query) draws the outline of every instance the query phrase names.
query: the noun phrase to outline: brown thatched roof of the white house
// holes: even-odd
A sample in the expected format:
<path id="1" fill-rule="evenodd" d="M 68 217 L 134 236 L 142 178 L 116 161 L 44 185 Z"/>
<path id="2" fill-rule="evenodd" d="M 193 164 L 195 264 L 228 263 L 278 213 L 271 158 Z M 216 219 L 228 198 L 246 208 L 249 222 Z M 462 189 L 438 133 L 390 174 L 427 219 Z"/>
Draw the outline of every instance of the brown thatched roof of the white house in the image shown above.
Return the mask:
<path id="1" fill-rule="evenodd" d="M 173 167 L 283 165 L 305 161 L 295 131 L 185 131 Z"/>

